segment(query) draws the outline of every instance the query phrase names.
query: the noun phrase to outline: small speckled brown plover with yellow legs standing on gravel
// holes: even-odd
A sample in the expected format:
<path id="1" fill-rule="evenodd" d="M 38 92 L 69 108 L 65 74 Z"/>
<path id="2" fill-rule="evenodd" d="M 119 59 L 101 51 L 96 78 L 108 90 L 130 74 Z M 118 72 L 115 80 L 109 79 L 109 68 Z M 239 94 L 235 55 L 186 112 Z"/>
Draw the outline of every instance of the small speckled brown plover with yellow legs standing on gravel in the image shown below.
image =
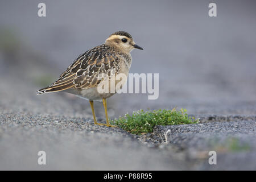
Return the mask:
<path id="1" fill-rule="evenodd" d="M 60 75 L 57 81 L 53 82 L 46 88 L 39 89 L 39 94 L 53 92 L 68 92 L 78 97 L 89 100 L 92 109 L 93 120 L 95 125 L 117 127 L 110 125 L 108 118 L 108 107 L 106 98 L 117 93 L 99 92 L 98 87 L 104 81 L 110 81 L 113 76 L 123 74 L 123 84 L 127 81 L 127 75 L 131 67 L 131 51 L 133 49 L 142 49 L 135 44 L 133 37 L 125 31 L 117 31 L 111 34 L 104 44 L 96 46 L 82 53 L 73 61 L 71 65 Z M 99 78 L 100 75 L 107 75 Z M 118 81 L 117 81 L 118 82 Z M 122 85 L 120 86 L 120 89 Z M 106 123 L 98 123 L 94 112 L 94 101 L 102 101 L 104 105 Z"/>

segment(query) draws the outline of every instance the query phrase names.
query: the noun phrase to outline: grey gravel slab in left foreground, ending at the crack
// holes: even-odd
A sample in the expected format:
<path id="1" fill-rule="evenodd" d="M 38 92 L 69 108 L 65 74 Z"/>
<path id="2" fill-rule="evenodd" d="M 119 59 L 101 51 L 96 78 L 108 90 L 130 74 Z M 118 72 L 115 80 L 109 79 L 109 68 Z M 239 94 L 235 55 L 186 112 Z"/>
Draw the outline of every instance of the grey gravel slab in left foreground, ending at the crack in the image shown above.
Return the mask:
<path id="1" fill-rule="evenodd" d="M 121 129 L 92 120 L 1 114 L 0 169 L 180 169 L 174 158 L 143 146 Z M 47 165 L 37 164 L 46 151 Z M 180 166 L 180 167 L 179 167 Z"/>

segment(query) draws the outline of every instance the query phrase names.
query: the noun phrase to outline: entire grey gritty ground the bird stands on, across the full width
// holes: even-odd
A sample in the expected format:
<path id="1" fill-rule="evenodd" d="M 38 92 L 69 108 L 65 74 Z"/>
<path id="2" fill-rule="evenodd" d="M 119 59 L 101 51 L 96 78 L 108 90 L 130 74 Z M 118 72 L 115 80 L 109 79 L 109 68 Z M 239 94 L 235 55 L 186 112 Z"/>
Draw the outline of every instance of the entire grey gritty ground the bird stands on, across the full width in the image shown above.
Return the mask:
<path id="1" fill-rule="evenodd" d="M 138 136 L 95 126 L 90 109 L 73 97 L 35 96 L 30 84 L 1 82 L 0 169 L 256 169 L 255 115 L 204 114 L 202 123 L 156 126 Z M 37 164 L 41 150 L 45 166 Z M 217 165 L 208 163 L 211 150 Z"/>

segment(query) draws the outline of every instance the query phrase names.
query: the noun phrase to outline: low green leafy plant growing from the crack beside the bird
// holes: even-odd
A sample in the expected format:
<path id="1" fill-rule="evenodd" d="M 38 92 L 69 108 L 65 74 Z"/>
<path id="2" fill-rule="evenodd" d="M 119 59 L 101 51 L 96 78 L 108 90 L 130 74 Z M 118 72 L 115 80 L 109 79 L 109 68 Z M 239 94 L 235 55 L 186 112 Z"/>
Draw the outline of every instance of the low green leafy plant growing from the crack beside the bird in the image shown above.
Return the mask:
<path id="1" fill-rule="evenodd" d="M 132 134 L 152 132 L 156 125 L 184 125 L 198 123 L 199 119 L 188 117 L 187 110 L 176 108 L 172 110 L 134 111 L 110 121 L 113 125 L 121 127 Z"/>

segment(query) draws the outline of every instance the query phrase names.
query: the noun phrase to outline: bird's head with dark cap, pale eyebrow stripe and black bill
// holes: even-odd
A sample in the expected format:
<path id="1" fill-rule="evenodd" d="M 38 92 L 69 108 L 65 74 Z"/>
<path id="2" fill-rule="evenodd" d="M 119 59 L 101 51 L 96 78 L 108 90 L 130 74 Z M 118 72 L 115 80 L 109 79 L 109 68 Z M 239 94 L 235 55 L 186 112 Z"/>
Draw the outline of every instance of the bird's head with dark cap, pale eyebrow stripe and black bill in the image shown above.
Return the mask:
<path id="1" fill-rule="evenodd" d="M 134 48 L 143 50 L 142 47 L 135 44 L 131 35 L 124 31 L 118 31 L 111 34 L 109 38 L 106 39 L 105 44 L 117 47 L 120 51 L 125 53 L 130 53 Z"/>

